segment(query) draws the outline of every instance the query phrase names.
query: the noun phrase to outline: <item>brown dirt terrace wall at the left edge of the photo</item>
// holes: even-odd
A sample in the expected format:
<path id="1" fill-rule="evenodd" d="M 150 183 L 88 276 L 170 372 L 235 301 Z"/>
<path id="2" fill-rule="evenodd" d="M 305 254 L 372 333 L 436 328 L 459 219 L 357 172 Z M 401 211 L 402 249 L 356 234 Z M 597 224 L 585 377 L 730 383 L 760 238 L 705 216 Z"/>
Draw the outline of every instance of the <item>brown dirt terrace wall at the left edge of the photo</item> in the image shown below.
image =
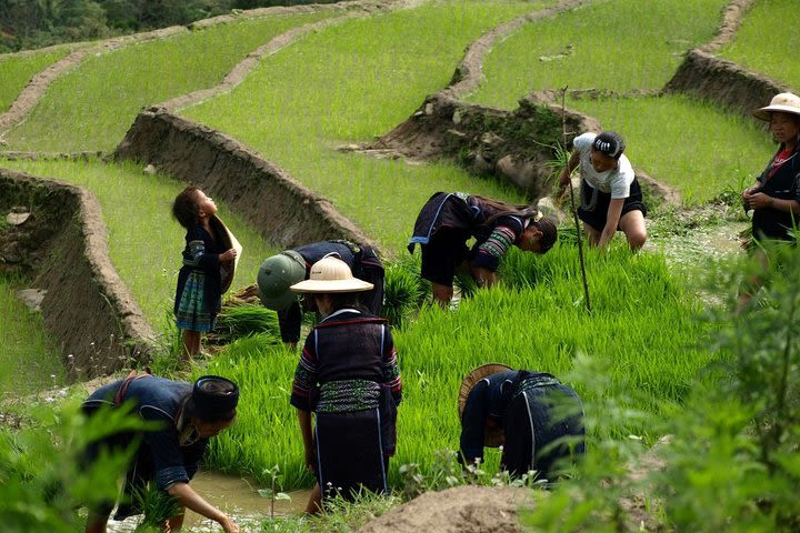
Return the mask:
<path id="1" fill-rule="evenodd" d="M 0 169 L 0 207 L 26 205 L 44 219 L 48 257 L 33 286 L 47 290 L 44 326 L 71 379 L 103 375 L 149 358 L 154 338 L 108 258 L 108 233 L 88 191 Z M 71 355 L 71 356 L 70 356 Z"/>

